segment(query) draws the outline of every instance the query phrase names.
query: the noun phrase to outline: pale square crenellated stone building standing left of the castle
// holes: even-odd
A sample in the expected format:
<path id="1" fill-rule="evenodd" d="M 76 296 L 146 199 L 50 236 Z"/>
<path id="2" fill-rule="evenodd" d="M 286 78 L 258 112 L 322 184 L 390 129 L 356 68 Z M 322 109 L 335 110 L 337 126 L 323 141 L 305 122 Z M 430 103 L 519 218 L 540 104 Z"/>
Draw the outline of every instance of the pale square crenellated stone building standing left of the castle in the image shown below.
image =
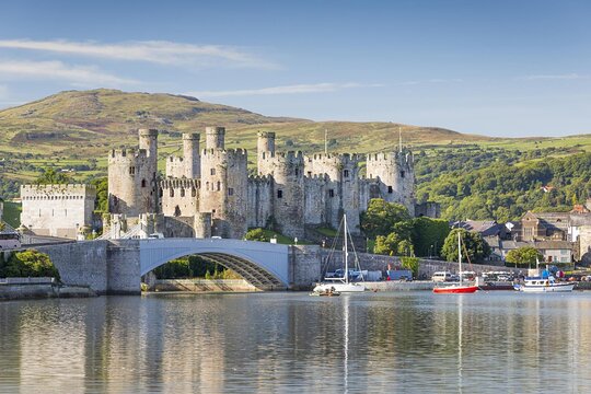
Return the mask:
<path id="1" fill-rule="evenodd" d="M 23 185 L 21 223 L 38 235 L 76 239 L 92 225 L 95 198 L 92 185 Z"/>

